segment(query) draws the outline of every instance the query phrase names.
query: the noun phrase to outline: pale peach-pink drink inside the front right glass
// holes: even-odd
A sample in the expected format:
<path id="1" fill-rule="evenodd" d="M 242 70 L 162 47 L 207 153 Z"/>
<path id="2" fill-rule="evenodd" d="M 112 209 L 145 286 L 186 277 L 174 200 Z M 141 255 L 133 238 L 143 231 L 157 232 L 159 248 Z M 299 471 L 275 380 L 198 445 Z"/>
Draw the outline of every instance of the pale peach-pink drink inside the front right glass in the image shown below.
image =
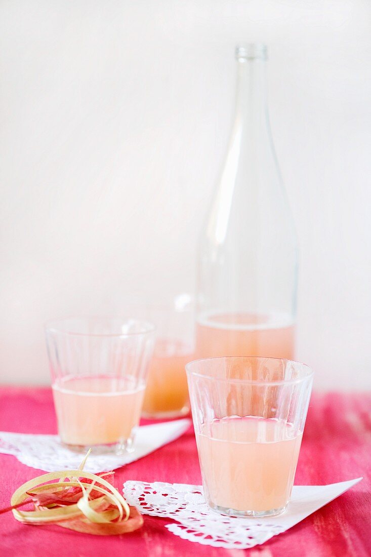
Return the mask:
<path id="1" fill-rule="evenodd" d="M 204 424 L 196 439 L 209 504 L 219 510 L 279 512 L 290 499 L 301 437 L 274 418 Z"/>

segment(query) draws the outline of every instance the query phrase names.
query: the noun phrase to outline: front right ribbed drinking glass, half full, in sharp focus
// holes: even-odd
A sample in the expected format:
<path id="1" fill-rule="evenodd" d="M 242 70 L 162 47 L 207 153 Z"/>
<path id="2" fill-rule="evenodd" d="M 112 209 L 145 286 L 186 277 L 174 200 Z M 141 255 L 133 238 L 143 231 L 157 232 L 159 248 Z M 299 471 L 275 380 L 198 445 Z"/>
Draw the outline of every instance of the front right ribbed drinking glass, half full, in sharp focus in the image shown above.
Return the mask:
<path id="1" fill-rule="evenodd" d="M 294 483 L 313 372 L 258 357 L 186 366 L 204 495 L 230 516 L 286 509 Z"/>

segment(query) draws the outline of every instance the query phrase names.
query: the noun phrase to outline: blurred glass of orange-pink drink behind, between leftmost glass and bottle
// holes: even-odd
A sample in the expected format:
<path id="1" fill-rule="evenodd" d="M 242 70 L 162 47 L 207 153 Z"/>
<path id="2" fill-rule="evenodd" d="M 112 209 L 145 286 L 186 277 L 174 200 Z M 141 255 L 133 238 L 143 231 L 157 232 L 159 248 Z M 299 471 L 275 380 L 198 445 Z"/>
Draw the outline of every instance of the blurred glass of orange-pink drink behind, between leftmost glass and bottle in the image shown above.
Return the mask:
<path id="1" fill-rule="evenodd" d="M 194 309 L 188 295 L 168 306 L 146 306 L 156 340 L 149 366 L 143 412 L 145 418 L 175 418 L 189 413 L 186 364 L 194 359 Z"/>

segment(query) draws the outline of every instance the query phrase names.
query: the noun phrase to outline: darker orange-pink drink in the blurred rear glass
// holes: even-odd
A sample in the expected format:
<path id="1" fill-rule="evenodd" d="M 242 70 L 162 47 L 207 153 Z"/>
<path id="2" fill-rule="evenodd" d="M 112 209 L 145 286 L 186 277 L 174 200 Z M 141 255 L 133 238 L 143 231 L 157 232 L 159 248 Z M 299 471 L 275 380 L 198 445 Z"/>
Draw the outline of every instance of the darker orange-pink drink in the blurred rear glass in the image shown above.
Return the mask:
<path id="1" fill-rule="evenodd" d="M 191 348 L 182 341 L 157 340 L 145 389 L 144 416 L 170 417 L 189 412 L 185 366 L 192 359 Z"/>

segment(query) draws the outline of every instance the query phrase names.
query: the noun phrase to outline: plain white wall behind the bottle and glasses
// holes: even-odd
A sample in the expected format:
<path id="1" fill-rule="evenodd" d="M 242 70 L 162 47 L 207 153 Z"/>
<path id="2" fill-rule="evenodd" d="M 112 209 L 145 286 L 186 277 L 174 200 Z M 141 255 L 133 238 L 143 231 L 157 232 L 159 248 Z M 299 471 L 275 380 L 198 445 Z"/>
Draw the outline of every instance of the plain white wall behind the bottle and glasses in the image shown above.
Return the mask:
<path id="1" fill-rule="evenodd" d="M 2 382 L 48 381 L 50 317 L 193 289 L 241 40 L 270 46 L 297 358 L 371 387 L 368 0 L 0 2 Z"/>

